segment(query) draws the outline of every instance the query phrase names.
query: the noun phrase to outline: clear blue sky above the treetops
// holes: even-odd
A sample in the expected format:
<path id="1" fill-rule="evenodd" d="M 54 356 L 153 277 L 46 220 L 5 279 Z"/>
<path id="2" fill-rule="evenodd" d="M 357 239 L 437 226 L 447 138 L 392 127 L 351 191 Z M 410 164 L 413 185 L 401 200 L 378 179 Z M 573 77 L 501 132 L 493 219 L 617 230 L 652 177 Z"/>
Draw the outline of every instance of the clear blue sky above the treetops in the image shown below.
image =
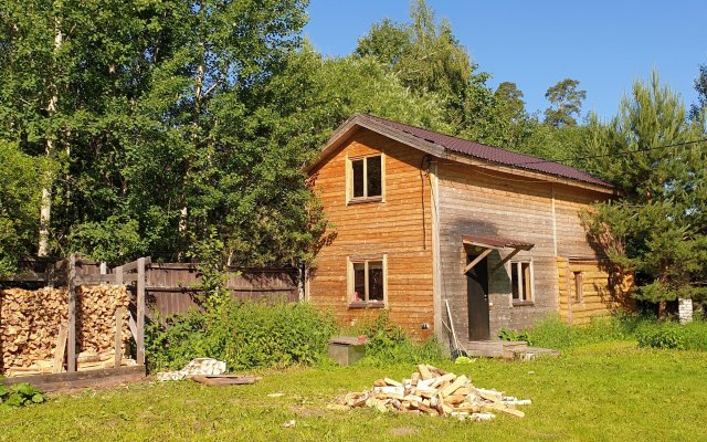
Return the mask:
<path id="1" fill-rule="evenodd" d="M 707 63 L 707 0 L 428 0 L 446 18 L 489 84 L 511 81 L 528 110 L 548 106 L 545 91 L 579 80 L 584 113 L 608 118 L 635 78 L 657 69 L 663 82 L 695 102 L 693 81 Z M 407 21 L 408 0 L 310 0 L 305 28 L 315 48 L 346 55 L 383 18 Z"/>

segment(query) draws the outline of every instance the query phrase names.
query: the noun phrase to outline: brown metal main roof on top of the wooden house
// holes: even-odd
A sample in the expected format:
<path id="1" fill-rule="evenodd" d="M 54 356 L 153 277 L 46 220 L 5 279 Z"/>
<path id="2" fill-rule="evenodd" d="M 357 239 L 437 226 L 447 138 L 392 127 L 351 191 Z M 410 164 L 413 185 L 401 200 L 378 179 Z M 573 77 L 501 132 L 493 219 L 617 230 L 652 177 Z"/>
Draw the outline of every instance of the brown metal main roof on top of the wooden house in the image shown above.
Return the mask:
<path id="1" fill-rule="evenodd" d="M 499 165 L 517 167 L 527 170 L 536 170 L 539 172 L 589 182 L 592 185 L 613 188 L 611 183 L 593 177 L 583 170 L 579 170 L 570 166 L 564 166 L 559 162 L 552 162 L 530 155 L 517 154 L 514 151 L 500 149 L 498 147 L 482 145 L 481 143 L 469 141 L 467 139 L 451 137 L 449 135 L 439 134 L 432 130 L 410 126 L 398 122 L 392 122 L 390 119 L 377 117 L 373 115 L 366 114 L 362 116 L 392 129 L 403 131 L 429 143 L 434 143 L 435 145 L 440 145 L 445 149 L 453 150 L 460 154 L 469 155 L 472 157 L 497 162 Z"/>

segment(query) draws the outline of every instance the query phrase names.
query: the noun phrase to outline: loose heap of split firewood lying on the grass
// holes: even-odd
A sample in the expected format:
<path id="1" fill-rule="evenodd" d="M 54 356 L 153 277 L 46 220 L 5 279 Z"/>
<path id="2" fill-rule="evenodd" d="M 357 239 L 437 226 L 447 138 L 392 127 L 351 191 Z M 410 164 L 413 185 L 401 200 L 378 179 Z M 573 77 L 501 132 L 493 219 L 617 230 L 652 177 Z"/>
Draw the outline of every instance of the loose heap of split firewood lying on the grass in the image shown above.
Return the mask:
<path id="1" fill-rule="evenodd" d="M 345 394 L 330 408 L 348 410 L 370 407 L 381 412 L 403 411 L 482 421 L 493 419 L 498 412 L 523 418 L 525 413 L 517 410 L 516 406 L 528 403 L 530 400 L 518 400 L 500 391 L 476 388 L 464 375 L 456 376 L 421 364 L 418 371 L 402 382 L 378 379 L 371 390 Z"/>

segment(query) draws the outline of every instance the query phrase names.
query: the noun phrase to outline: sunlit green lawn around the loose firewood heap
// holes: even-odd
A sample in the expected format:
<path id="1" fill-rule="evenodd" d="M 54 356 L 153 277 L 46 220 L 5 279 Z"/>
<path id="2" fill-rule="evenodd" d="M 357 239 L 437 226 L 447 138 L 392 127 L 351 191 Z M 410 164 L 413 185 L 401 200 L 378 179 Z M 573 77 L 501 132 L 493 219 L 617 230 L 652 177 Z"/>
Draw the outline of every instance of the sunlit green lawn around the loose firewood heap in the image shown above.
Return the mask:
<path id="1" fill-rule="evenodd" d="M 149 382 L 0 411 L 0 440 L 705 440 L 706 367 L 707 352 L 637 349 L 631 341 L 579 347 L 558 359 L 449 364 L 477 387 L 532 400 L 524 419 L 482 423 L 326 409 L 338 394 L 382 376 L 407 377 L 412 366 L 271 371 L 254 386 L 229 388 Z M 267 396 L 276 392 L 284 394 Z M 292 419 L 294 428 L 282 428 Z"/>

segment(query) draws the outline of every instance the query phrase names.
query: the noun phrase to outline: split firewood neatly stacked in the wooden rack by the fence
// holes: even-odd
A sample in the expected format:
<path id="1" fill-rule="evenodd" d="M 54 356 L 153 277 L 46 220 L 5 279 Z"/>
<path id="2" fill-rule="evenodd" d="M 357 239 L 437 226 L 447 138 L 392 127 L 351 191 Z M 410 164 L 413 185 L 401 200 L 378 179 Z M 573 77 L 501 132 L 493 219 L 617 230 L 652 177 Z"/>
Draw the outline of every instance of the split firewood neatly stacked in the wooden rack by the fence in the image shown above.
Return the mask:
<path id="1" fill-rule="evenodd" d="M 117 307 L 125 307 L 122 347 L 124 352 L 127 350 L 129 299 L 124 286 L 98 285 L 76 290 L 77 355 L 114 352 Z M 66 288 L 0 291 L 0 371 L 29 368 L 30 371 L 43 372 L 44 366 L 53 364 L 60 328 L 67 324 Z M 81 366 L 81 359 L 78 364 Z"/>

